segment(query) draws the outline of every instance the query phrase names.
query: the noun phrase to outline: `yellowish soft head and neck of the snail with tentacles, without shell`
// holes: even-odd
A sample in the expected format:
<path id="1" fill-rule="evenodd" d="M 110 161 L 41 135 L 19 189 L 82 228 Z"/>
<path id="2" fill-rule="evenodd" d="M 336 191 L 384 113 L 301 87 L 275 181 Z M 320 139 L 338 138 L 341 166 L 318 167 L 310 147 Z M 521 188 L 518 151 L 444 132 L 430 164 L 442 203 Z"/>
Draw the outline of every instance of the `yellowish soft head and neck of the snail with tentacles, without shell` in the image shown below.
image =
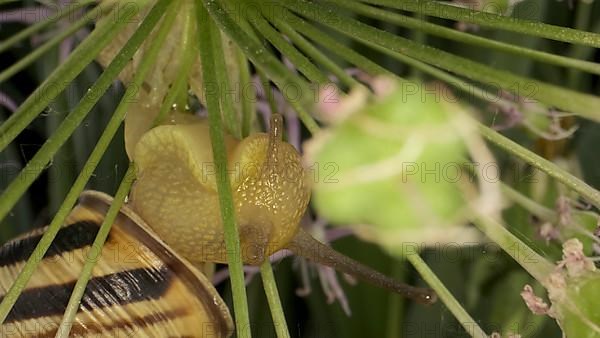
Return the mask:
<path id="1" fill-rule="evenodd" d="M 243 262 L 257 265 L 289 249 L 417 302 L 433 303 L 432 290 L 388 278 L 300 228 L 310 186 L 300 154 L 283 141 L 282 124 L 281 115 L 274 114 L 268 134 L 254 133 L 241 141 L 225 134 Z M 132 208 L 161 239 L 196 265 L 227 262 L 208 129 L 206 120 L 161 125 L 144 134 L 132 154 L 138 168 L 130 195 Z"/>

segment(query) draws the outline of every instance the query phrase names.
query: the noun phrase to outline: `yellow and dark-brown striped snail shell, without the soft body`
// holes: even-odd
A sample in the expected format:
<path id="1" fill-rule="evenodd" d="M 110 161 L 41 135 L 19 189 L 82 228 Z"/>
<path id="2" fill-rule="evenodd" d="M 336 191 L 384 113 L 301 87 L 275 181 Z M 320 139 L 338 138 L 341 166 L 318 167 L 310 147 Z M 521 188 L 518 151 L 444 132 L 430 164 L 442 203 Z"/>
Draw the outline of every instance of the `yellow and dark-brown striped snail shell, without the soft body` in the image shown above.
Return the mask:
<path id="1" fill-rule="evenodd" d="M 54 337 L 112 198 L 84 192 L 0 328 L 2 337 Z M 0 248 L 4 294 L 44 229 Z M 207 278 L 128 207 L 98 256 L 71 336 L 227 337 L 229 311 Z"/>

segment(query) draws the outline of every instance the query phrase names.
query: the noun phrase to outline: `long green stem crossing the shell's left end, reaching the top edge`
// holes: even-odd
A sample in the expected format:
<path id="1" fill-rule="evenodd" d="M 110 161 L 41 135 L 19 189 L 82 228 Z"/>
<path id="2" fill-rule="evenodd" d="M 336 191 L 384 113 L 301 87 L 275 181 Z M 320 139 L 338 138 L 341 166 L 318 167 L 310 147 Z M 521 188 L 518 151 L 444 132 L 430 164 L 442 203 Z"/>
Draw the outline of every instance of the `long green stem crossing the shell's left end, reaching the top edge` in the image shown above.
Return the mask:
<path id="1" fill-rule="evenodd" d="M 82 170 L 79 173 L 79 176 L 71 186 L 71 189 L 69 190 L 56 215 L 52 219 L 52 222 L 44 232 L 44 235 L 40 239 L 39 243 L 35 247 L 27 262 L 25 263 L 25 266 L 17 276 L 17 279 L 15 280 L 13 285 L 11 285 L 10 289 L 4 296 L 4 299 L 2 299 L 2 303 L 0 304 L 0 324 L 4 322 L 6 316 L 12 309 L 17 299 L 19 298 L 21 291 L 29 282 L 29 279 L 33 275 L 33 272 L 35 271 L 37 265 L 40 262 L 39 257 L 44 257 L 46 251 L 48 251 L 48 248 L 50 247 L 52 241 L 56 237 L 56 234 L 60 230 L 61 225 L 64 223 L 65 219 L 67 218 L 67 215 L 71 211 L 71 208 L 75 204 L 77 197 L 84 189 L 87 181 L 90 179 L 97 165 L 100 163 L 100 160 L 102 159 L 102 156 L 108 148 L 112 138 L 117 133 L 117 130 L 119 129 L 119 126 L 121 125 L 121 122 L 125 117 L 127 108 L 131 103 L 130 98 L 135 96 L 138 88 L 140 88 L 144 80 L 144 77 L 146 76 L 146 74 L 148 74 L 150 67 L 155 63 L 158 51 L 160 50 L 160 47 L 162 46 L 162 43 L 164 42 L 167 36 L 167 33 L 173 25 L 176 13 L 177 12 L 174 10 L 173 7 L 171 7 L 167 11 L 167 14 L 165 15 L 165 20 L 161 24 L 156 38 L 153 40 L 152 44 L 149 47 L 149 50 L 146 54 L 147 57 L 145 57 L 144 60 L 142 60 L 142 63 L 136 70 L 131 85 L 127 88 L 125 95 L 123 95 L 121 102 L 117 106 L 113 116 L 111 117 L 106 128 L 104 129 L 104 132 L 100 136 L 96 147 L 94 147 L 94 150 L 92 150 L 90 157 L 83 166 L 84 170 Z"/>

